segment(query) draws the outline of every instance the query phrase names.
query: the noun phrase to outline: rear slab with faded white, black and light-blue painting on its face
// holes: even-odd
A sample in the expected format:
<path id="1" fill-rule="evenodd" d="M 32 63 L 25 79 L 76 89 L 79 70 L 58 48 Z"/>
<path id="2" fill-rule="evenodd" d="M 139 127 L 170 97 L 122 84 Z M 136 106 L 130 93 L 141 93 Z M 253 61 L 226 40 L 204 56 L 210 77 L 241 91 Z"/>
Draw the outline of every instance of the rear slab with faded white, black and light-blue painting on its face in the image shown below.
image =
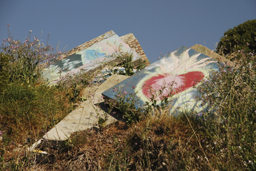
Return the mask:
<path id="1" fill-rule="evenodd" d="M 134 48 L 129 47 L 113 31 L 99 37 L 100 39 L 95 38 L 96 40 L 91 40 L 87 44 L 70 50 L 67 56 L 63 57 L 64 59 L 52 63 L 49 68 L 44 70 L 44 78 L 55 83 L 60 76 L 65 77 L 65 75 L 74 75 L 80 71 L 91 71 L 103 62 L 113 61 L 115 57 L 111 57 L 111 54 L 118 51 L 118 48 L 123 52 L 131 52 L 134 55 L 133 61 L 138 61 L 141 58 Z"/>

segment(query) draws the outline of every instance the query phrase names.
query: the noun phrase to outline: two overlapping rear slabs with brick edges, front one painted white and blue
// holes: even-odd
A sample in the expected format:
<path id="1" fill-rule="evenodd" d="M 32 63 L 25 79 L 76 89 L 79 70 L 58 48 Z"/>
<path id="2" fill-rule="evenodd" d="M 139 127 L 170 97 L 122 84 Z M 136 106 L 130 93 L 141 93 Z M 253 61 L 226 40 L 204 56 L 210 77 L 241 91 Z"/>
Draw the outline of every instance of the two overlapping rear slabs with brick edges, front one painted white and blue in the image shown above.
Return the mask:
<path id="1" fill-rule="evenodd" d="M 74 75 L 81 71 L 93 72 L 111 61 L 120 63 L 120 60 L 111 56 L 120 51 L 133 54 L 134 66 L 137 66 L 139 61 L 148 61 L 140 43 L 132 33 L 120 38 L 113 31 L 109 31 L 49 61 L 50 66 L 44 70 L 44 78 L 55 83 L 60 80 L 60 77 Z"/>

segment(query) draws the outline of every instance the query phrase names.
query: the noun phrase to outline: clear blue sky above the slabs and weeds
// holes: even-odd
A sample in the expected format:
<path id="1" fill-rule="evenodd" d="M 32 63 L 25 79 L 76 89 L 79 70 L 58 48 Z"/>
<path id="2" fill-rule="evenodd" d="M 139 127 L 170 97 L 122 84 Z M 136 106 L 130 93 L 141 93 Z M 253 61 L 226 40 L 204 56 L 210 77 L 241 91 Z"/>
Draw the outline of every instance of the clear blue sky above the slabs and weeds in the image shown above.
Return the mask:
<path id="1" fill-rule="evenodd" d="M 51 33 L 49 44 L 60 41 L 68 51 L 113 30 L 118 36 L 133 33 L 154 62 L 160 52 L 182 45 L 214 50 L 225 31 L 256 19 L 255 9 L 255 0 L 8 0 L 0 5 L 0 39 L 8 37 L 10 24 L 15 40 L 24 41 L 31 30 L 45 43 Z"/>

